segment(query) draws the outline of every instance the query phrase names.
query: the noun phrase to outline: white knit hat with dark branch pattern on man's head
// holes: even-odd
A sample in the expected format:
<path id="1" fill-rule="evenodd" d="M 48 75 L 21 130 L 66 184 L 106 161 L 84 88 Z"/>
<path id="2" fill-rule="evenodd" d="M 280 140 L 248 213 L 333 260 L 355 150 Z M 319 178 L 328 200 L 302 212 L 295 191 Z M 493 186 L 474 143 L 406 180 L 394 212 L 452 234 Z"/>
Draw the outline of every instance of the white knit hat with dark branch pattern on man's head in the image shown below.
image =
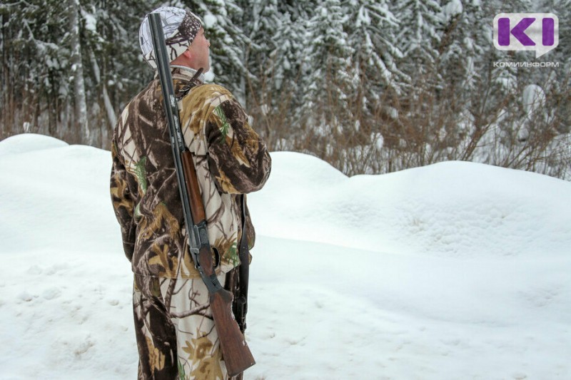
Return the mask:
<path id="1" fill-rule="evenodd" d="M 161 15 L 167 52 L 171 61 L 173 61 L 184 53 L 188 46 L 191 46 L 196 34 L 202 27 L 202 20 L 189 9 L 181 9 L 174 6 L 161 6 L 161 8 L 155 9 L 153 13 Z M 148 15 L 146 15 L 141 23 L 138 36 L 141 42 L 143 58 L 153 69 L 156 69 L 153 38 L 151 37 L 151 26 L 149 24 Z"/>

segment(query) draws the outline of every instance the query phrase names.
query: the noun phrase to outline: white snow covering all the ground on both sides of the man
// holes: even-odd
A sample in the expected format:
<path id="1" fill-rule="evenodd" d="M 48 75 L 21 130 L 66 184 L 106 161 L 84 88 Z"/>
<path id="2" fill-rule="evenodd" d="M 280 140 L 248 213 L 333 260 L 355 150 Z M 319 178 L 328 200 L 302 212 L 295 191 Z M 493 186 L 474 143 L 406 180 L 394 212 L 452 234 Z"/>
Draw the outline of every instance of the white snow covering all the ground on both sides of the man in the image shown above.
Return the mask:
<path id="1" fill-rule="evenodd" d="M 248 196 L 246 379 L 570 378 L 571 183 L 462 162 L 348 178 L 272 158 Z M 0 142 L 1 379 L 136 377 L 110 165 L 46 136 Z"/>

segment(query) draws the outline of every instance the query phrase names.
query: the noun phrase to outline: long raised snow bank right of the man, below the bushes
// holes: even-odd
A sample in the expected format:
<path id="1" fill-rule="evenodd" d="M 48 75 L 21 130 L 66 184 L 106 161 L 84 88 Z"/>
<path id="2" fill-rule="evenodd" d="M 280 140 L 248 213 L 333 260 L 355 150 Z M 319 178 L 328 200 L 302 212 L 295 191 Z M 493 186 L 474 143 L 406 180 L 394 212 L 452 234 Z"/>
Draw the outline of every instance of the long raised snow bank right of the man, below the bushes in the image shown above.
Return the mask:
<path id="1" fill-rule="evenodd" d="M 251 202 L 255 222 L 272 221 L 266 236 L 449 257 L 570 252 L 563 180 L 460 161 L 348 178 L 308 155 L 272 158 Z"/>

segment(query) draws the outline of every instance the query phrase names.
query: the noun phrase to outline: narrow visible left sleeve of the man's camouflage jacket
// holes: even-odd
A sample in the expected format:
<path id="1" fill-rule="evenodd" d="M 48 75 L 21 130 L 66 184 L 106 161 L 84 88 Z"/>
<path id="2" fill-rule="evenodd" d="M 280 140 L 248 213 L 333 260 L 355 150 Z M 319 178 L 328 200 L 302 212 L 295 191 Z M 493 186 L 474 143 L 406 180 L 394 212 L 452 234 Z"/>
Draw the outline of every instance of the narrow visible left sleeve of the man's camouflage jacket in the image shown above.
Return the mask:
<path id="1" fill-rule="evenodd" d="M 128 187 L 128 173 L 125 165 L 118 155 L 115 138 L 113 138 L 111 155 L 113 167 L 111 168 L 111 201 L 113 210 L 123 235 L 123 250 L 129 261 L 133 258 L 135 248 L 136 225 L 133 220 L 134 200 Z"/>

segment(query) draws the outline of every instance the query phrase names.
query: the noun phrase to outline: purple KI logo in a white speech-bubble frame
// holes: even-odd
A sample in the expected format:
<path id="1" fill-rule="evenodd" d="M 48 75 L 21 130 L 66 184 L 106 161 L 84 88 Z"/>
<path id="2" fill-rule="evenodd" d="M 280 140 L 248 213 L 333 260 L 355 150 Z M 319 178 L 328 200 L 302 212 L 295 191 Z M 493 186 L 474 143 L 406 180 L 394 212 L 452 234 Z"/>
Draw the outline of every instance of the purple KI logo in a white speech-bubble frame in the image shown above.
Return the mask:
<path id="1" fill-rule="evenodd" d="M 559 45 L 559 19 L 555 14 L 497 14 L 494 46 L 498 50 L 533 50 L 535 58 Z"/>

